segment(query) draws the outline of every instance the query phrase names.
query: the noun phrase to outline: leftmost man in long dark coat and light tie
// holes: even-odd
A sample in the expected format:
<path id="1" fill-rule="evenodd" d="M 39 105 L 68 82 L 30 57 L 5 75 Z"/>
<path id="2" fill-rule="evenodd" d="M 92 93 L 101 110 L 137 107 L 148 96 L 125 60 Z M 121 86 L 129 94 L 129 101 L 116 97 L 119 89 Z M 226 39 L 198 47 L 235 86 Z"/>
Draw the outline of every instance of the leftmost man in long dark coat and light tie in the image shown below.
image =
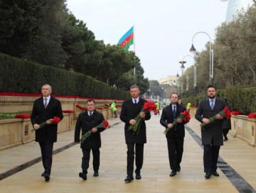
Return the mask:
<path id="1" fill-rule="evenodd" d="M 39 142 L 43 160 L 44 172 L 41 176 L 46 181 L 50 180 L 50 170 L 53 162 L 53 143 L 57 141 L 58 124 L 53 125 L 51 118 L 57 116 L 63 119 L 61 104 L 58 99 L 51 96 L 52 88 L 49 84 L 45 84 L 41 90 L 43 96 L 33 104 L 31 114 L 31 123 L 36 129 L 36 141 Z M 46 122 L 46 126 L 41 128 L 39 124 Z"/>

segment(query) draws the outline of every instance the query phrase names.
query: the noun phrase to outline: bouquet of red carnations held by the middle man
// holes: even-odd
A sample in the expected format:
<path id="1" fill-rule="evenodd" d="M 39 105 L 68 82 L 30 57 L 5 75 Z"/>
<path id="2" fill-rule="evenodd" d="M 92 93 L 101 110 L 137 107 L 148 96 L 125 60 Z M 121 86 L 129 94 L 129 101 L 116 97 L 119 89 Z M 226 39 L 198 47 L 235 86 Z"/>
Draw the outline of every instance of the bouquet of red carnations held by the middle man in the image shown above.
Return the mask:
<path id="1" fill-rule="evenodd" d="M 146 101 L 144 103 L 144 106 L 143 106 L 143 109 L 142 109 L 141 112 L 144 112 L 144 114 L 147 114 L 150 111 L 156 112 L 156 104 L 154 104 L 154 102 L 151 102 L 151 101 Z M 128 130 L 132 130 L 132 131 L 134 131 L 134 133 L 137 133 L 137 135 L 138 135 L 139 134 L 139 127 L 142 123 L 142 117 L 138 114 L 134 119 L 137 123 L 135 125 L 130 125 Z"/>

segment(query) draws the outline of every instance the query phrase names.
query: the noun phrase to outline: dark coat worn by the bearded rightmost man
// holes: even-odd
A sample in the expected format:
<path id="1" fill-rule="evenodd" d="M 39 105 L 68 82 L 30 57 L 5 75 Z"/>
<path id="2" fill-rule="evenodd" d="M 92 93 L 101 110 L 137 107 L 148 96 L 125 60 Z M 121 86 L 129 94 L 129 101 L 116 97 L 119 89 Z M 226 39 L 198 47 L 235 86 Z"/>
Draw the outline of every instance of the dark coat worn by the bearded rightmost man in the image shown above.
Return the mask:
<path id="1" fill-rule="evenodd" d="M 200 122 L 203 122 L 203 118 L 211 118 L 218 114 L 220 111 L 227 106 L 226 102 L 223 99 L 216 98 L 215 105 L 213 110 L 210 108 L 209 99 L 203 99 L 200 101 L 198 109 L 196 111 L 196 119 Z M 222 119 L 217 119 L 215 123 L 210 123 L 205 126 L 204 129 L 201 129 L 202 134 L 202 143 L 203 145 L 210 145 L 213 141 L 214 146 L 223 145 L 223 131 L 222 131 Z"/>

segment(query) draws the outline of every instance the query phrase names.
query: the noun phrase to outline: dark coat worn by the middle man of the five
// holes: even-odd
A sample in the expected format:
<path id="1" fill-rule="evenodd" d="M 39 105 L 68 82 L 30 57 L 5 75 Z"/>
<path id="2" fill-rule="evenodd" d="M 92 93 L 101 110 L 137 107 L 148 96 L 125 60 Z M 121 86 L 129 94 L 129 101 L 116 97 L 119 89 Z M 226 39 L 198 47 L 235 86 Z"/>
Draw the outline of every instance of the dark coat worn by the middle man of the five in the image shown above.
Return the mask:
<path id="1" fill-rule="evenodd" d="M 134 119 L 143 109 L 144 103 L 146 100 L 139 98 L 139 103 L 134 104 L 132 99 L 128 99 L 124 101 L 122 104 L 122 111 L 120 115 L 120 119 L 124 121 L 124 136 L 126 143 L 146 143 L 146 124 L 145 120 L 149 120 L 151 118 L 150 113 L 146 114 L 146 117 L 142 119 L 141 127 L 139 128 L 139 134 L 134 133 L 134 131 L 129 130 L 130 126 L 129 121 Z M 134 133 L 134 134 L 133 134 Z"/>

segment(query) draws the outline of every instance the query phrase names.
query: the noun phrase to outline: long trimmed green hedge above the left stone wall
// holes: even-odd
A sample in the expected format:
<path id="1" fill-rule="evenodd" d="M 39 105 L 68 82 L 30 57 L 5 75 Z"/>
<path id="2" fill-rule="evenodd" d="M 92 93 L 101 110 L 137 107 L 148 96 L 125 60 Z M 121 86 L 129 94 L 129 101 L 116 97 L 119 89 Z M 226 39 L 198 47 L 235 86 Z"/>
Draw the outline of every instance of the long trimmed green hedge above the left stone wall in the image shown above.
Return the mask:
<path id="1" fill-rule="evenodd" d="M 104 82 L 81 73 L 38 65 L 0 53 L 0 92 L 38 94 L 43 84 L 53 94 L 89 98 L 128 99 L 129 92 L 113 89 Z"/>

